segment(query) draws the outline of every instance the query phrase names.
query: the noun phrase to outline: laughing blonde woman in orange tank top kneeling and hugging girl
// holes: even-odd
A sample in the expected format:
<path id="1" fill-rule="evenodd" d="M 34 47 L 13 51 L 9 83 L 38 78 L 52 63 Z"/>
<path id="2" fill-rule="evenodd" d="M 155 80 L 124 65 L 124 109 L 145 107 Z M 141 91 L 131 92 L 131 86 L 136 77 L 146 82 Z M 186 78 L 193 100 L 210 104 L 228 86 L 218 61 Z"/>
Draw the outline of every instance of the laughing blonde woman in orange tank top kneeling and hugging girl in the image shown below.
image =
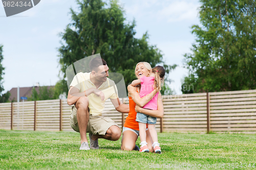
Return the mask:
<path id="1" fill-rule="evenodd" d="M 135 68 L 135 75 L 139 79 L 143 76 L 148 77 L 150 75 L 151 65 L 147 62 L 139 62 Z M 158 103 L 157 103 L 157 110 L 148 110 L 143 109 L 145 104 L 147 104 L 157 93 L 156 90 L 152 91 L 150 94 L 147 94 L 143 98 L 140 98 L 139 95 L 139 88 L 133 87 L 129 85 L 128 89 L 128 96 L 129 96 L 129 106 L 130 112 L 129 115 L 125 119 L 124 127 L 123 127 L 123 135 L 122 135 L 122 144 L 121 149 L 125 151 L 132 151 L 135 149 L 135 142 L 139 136 L 139 124 L 136 122 L 136 114 L 137 112 L 144 113 L 146 115 L 150 115 L 153 117 L 163 117 L 163 103 L 162 103 L 162 96 L 159 93 L 158 95 Z M 137 104 L 137 105 L 136 105 Z M 153 141 L 150 136 L 148 130 L 146 131 L 146 142 L 147 147 L 150 152 L 154 152 L 152 147 Z"/>

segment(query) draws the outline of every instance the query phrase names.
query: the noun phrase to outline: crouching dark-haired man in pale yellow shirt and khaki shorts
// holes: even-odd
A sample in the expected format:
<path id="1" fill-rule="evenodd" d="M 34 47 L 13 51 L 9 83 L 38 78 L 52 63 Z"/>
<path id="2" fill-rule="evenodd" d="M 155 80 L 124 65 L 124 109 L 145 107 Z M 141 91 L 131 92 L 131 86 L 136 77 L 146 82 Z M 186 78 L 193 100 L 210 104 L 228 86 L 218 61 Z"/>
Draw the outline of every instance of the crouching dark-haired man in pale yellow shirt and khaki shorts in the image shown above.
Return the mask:
<path id="1" fill-rule="evenodd" d="M 109 67 L 105 60 L 96 57 L 89 63 L 91 72 L 79 72 L 70 84 L 68 104 L 74 105 L 70 125 L 80 132 L 80 150 L 98 149 L 98 138 L 116 141 L 121 136 L 118 125 L 102 116 L 104 104 L 110 98 L 117 111 L 129 113 L 129 106 L 118 98 L 114 81 L 108 78 Z M 89 132 L 90 148 L 86 133 Z"/>

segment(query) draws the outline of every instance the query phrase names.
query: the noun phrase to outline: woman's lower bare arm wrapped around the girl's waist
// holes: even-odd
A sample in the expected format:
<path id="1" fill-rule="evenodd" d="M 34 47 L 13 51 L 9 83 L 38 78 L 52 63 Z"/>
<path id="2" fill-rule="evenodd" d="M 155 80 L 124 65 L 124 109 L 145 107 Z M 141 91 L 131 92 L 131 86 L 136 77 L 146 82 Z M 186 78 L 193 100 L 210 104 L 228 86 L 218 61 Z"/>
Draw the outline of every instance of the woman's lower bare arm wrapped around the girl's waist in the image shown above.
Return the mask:
<path id="1" fill-rule="evenodd" d="M 163 117 L 163 102 L 162 102 L 162 95 L 159 93 L 158 94 L 158 99 L 157 99 L 157 110 L 149 110 L 149 109 L 143 109 L 136 105 L 135 111 L 138 113 L 143 113 L 152 117 Z"/>

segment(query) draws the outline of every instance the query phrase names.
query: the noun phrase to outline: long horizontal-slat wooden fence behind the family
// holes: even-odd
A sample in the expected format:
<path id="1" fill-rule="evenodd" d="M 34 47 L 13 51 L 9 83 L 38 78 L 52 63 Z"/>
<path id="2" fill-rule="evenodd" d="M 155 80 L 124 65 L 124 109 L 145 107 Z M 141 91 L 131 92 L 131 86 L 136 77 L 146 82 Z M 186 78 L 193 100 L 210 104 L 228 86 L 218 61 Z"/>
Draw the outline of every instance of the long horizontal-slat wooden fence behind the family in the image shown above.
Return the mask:
<path id="1" fill-rule="evenodd" d="M 164 95 L 162 101 L 158 132 L 256 133 L 256 90 Z M 70 111 L 67 100 L 1 103 L 0 129 L 73 131 Z M 128 115 L 116 111 L 110 100 L 102 114 L 120 128 Z"/>

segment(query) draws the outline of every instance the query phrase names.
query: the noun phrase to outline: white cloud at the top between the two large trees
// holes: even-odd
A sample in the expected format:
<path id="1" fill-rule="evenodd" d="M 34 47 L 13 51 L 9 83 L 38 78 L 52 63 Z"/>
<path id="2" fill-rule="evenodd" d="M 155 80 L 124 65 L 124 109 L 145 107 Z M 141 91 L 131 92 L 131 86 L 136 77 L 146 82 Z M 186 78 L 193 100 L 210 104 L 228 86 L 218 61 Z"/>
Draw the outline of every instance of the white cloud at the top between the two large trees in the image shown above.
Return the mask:
<path id="1" fill-rule="evenodd" d="M 126 3 L 125 3 L 126 2 Z M 168 22 L 194 20 L 198 15 L 199 3 L 197 1 L 156 1 L 141 0 L 131 1 L 122 0 L 127 15 L 133 15 L 136 19 L 142 17 L 154 18 L 157 20 L 167 20 Z"/>

